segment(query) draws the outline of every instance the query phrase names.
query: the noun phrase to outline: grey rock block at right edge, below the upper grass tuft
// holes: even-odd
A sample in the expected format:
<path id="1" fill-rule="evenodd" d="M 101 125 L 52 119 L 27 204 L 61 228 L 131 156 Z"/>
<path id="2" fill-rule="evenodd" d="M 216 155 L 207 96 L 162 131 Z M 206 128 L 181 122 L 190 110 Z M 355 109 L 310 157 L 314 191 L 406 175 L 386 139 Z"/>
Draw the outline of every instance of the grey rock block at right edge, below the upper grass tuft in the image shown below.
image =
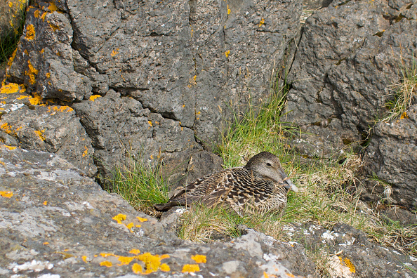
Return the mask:
<path id="1" fill-rule="evenodd" d="M 364 155 L 367 176 L 385 183 L 365 183 L 373 199 L 389 198 L 393 204 L 414 209 L 417 206 L 417 105 L 404 119 L 380 121 L 373 127 L 372 140 Z M 388 187 L 388 188 L 385 188 Z M 385 192 L 385 194 L 384 194 Z"/>

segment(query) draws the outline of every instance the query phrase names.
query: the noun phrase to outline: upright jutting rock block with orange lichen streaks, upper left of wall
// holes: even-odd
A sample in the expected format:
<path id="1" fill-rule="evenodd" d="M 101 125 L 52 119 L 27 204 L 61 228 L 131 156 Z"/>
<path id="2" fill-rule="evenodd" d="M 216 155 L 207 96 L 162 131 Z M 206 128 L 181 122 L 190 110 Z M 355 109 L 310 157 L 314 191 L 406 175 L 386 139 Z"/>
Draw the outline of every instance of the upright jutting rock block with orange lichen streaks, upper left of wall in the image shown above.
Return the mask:
<path id="1" fill-rule="evenodd" d="M 74 71 L 72 27 L 55 4 L 27 10 L 25 32 L 8 68 L 8 79 L 25 84 L 42 98 L 82 100 L 91 95 L 91 81 Z"/>

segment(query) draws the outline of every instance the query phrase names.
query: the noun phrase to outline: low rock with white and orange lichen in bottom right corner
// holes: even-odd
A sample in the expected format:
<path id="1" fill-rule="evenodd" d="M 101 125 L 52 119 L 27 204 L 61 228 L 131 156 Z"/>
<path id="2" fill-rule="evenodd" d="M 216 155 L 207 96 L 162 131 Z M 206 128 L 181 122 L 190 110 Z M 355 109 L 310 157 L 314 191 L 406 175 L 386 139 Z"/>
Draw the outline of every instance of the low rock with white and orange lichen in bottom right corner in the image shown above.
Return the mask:
<path id="1" fill-rule="evenodd" d="M 284 232 L 297 241 L 291 242 L 293 246 L 303 244 L 310 253 L 317 253 L 331 277 L 416 277 L 417 258 L 375 244 L 350 225 L 340 223 L 332 230 L 325 230 L 307 223 L 286 226 Z M 295 265 L 292 255 L 288 260 Z"/>

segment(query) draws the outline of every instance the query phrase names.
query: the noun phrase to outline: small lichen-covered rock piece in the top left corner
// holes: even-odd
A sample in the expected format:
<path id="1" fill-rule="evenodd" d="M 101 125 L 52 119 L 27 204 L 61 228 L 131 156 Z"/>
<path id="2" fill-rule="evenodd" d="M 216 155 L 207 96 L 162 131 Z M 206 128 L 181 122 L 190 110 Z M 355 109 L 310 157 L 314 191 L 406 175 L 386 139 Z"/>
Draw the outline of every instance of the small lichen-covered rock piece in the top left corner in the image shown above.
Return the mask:
<path id="1" fill-rule="evenodd" d="M 18 34 L 20 22 L 25 13 L 27 0 L 7 0 L 0 2 L 0 39 Z"/>

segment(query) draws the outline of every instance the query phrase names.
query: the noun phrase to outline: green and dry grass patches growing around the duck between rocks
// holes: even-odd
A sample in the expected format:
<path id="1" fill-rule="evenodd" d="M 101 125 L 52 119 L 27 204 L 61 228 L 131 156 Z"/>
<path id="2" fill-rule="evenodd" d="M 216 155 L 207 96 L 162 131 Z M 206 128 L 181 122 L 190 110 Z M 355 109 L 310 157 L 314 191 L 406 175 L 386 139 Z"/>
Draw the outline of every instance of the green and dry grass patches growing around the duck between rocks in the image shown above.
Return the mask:
<path id="1" fill-rule="evenodd" d="M 239 225 L 246 225 L 282 241 L 296 241 L 297 235 L 284 232 L 291 223 L 314 222 L 326 229 L 336 223 L 347 223 L 385 246 L 393 246 L 404 253 L 417 254 L 417 227 L 386 224 L 376 211 L 359 201 L 355 176 L 362 159 L 353 152 L 336 159 L 307 159 L 295 154 L 289 140 L 299 132 L 291 124 L 280 121 L 286 105 L 284 86 L 274 92 L 269 104 L 255 107 L 250 104 L 244 115 L 235 114 L 225 124 L 223 138 L 216 152 L 223 157 L 224 167 L 246 164 L 247 159 L 262 151 L 277 154 L 283 168 L 300 192 L 289 193 L 288 205 L 281 215 L 255 215 L 239 217 L 220 208 L 192 206 L 181 216 L 178 236 L 183 239 L 208 242 L 239 237 Z M 156 215 L 152 204 L 168 199 L 168 186 L 159 177 L 159 168 L 150 168 L 133 162 L 119 168 L 114 180 L 114 192 L 121 194 L 136 209 Z M 151 196 L 154 195 L 154 196 Z M 326 276 L 327 254 L 323 249 L 307 251 Z M 330 256 L 330 255 L 328 255 Z"/>

